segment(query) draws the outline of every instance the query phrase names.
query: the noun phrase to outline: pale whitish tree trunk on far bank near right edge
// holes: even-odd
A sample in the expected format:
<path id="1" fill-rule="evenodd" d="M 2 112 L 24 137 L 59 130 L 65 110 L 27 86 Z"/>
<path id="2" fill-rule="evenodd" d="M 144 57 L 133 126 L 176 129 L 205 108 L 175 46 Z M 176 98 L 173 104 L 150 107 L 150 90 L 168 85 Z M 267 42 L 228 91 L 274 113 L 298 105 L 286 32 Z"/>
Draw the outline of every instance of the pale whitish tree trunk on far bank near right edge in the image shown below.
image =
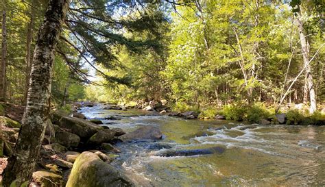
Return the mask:
<path id="1" fill-rule="evenodd" d="M 297 23 L 299 29 L 300 45 L 302 49 L 302 58 L 304 60 L 304 67 L 306 72 L 306 81 L 305 81 L 304 90 L 308 88 L 307 92 L 304 91 L 304 97 L 309 92 L 309 99 L 311 101 L 311 107 L 309 108 L 309 112 L 312 114 L 317 110 L 316 95 L 315 95 L 315 89 L 313 87 L 313 76 L 311 75 L 311 65 L 309 64 L 309 43 L 306 39 L 306 34 L 304 32 L 304 25 L 301 20 L 301 14 L 299 14 L 297 18 Z"/>

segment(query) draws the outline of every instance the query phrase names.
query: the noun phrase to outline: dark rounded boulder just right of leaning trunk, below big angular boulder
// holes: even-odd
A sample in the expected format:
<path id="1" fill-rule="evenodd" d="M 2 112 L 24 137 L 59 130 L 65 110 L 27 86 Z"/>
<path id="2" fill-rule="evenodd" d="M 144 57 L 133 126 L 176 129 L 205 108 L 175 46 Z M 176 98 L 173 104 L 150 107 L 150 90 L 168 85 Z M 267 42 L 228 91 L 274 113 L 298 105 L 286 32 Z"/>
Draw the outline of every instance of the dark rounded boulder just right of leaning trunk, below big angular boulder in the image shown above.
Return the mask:
<path id="1" fill-rule="evenodd" d="M 56 140 L 61 145 L 65 147 L 77 147 L 80 142 L 80 137 L 76 134 L 66 131 L 58 131 L 56 132 Z"/>

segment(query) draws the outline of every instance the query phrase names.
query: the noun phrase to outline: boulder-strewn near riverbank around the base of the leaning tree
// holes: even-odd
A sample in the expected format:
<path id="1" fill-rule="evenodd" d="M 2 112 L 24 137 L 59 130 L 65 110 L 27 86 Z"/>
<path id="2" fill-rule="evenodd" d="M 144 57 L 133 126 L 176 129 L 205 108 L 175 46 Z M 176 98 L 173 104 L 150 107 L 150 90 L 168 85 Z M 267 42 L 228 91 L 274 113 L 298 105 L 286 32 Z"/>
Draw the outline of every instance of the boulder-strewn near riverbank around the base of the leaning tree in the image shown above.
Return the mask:
<path id="1" fill-rule="evenodd" d="M 83 105 L 75 105 L 71 114 L 51 111 L 32 186 L 134 186 L 121 171 L 110 166 L 121 152 L 114 144 L 138 138 L 161 139 L 160 130 L 147 127 L 125 134 L 122 129 L 99 125 L 100 120 L 86 119 L 76 112 L 80 107 Z M 17 112 L 13 115 L 14 108 L 23 114 L 20 106 L 10 106 L 0 116 L 0 173 L 12 154 L 21 127 L 22 116 Z"/>

